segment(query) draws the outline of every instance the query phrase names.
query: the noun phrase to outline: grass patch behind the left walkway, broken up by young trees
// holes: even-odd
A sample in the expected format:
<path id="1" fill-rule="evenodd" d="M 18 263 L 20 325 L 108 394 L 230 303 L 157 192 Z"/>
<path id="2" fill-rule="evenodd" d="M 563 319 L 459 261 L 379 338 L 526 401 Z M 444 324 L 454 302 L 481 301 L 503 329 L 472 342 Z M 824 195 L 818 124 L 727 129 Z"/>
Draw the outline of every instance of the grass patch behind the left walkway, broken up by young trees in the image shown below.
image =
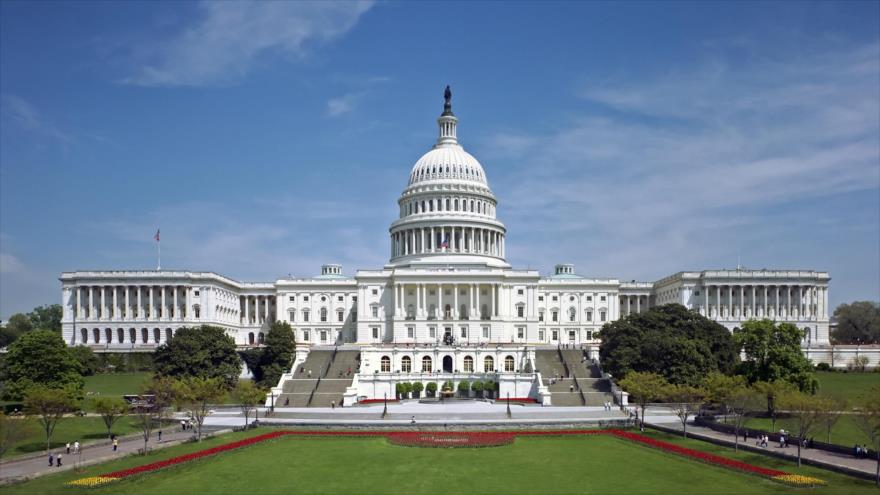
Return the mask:
<path id="1" fill-rule="evenodd" d="M 12 445 L 9 452 L 6 453 L 4 459 L 14 457 L 21 454 L 29 454 L 32 452 L 42 452 L 46 450 L 46 433 L 38 421 L 33 418 L 23 419 L 28 424 L 28 438 Z M 131 418 L 122 418 L 113 425 L 113 433 L 117 435 L 125 435 L 140 431 Z M 58 448 L 67 442 L 73 443 L 79 440 L 85 443 L 93 440 L 102 440 L 107 438 L 107 427 L 104 421 L 99 417 L 65 417 L 58 422 L 55 427 L 55 433 L 52 434 L 52 448 Z"/>

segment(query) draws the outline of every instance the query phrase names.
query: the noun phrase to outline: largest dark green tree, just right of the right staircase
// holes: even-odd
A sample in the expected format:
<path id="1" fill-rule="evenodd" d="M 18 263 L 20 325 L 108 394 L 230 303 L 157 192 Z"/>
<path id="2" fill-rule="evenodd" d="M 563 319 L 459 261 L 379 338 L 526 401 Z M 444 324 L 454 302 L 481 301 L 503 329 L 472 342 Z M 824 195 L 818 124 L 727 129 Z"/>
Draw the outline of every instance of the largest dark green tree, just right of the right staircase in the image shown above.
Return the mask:
<path id="1" fill-rule="evenodd" d="M 739 362 L 730 331 L 680 304 L 605 324 L 599 356 L 615 378 L 632 371 L 652 372 L 693 386 L 713 371 L 732 373 Z"/>

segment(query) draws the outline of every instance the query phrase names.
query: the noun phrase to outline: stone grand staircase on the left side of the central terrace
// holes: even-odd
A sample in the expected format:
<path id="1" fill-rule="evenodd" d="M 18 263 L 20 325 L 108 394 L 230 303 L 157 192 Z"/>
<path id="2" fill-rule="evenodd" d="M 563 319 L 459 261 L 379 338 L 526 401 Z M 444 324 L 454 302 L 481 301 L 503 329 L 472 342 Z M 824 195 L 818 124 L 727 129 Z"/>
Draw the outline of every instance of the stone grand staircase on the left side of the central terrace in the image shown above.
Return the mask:
<path id="1" fill-rule="evenodd" d="M 278 407 L 330 407 L 341 405 L 345 389 L 360 368 L 360 351 L 312 349 L 306 361 L 285 380 Z"/>

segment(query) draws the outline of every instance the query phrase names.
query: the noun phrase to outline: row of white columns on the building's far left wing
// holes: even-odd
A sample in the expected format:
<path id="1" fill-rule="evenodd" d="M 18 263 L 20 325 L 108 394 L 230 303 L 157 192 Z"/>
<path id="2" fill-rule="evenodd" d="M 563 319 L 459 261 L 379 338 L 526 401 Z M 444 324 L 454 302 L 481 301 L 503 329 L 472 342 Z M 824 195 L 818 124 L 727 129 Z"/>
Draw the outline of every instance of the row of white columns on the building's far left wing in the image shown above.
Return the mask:
<path id="1" fill-rule="evenodd" d="M 190 317 L 191 289 L 187 285 L 77 286 L 75 315 L 79 320 L 183 320 Z"/>

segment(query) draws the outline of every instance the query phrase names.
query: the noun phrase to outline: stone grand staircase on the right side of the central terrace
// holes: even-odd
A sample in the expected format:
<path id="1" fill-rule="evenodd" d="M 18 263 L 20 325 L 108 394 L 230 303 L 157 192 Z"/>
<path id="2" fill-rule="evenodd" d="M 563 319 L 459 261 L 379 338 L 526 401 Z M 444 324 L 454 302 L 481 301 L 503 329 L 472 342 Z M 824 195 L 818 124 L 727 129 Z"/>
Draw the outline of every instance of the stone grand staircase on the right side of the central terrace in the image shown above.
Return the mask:
<path id="1" fill-rule="evenodd" d="M 581 350 L 540 349 L 535 361 L 554 406 L 602 406 L 613 400 L 611 385 Z"/>

